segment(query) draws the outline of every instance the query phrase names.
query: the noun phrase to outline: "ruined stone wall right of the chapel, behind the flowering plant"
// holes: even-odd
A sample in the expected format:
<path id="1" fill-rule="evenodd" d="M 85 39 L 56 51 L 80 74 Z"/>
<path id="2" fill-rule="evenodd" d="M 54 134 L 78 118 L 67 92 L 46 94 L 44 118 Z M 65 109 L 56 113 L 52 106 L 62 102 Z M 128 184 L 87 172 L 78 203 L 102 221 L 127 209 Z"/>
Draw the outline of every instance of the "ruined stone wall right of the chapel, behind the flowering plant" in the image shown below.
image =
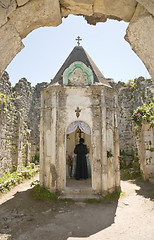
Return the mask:
<path id="1" fill-rule="evenodd" d="M 120 150 L 127 153 L 131 153 L 132 150 L 137 152 L 134 134 L 135 125 L 131 117 L 137 107 L 153 99 L 154 84 L 150 79 L 146 80 L 139 77 L 134 82 L 130 81 L 127 84 L 111 82 L 111 85 L 118 94 Z"/>

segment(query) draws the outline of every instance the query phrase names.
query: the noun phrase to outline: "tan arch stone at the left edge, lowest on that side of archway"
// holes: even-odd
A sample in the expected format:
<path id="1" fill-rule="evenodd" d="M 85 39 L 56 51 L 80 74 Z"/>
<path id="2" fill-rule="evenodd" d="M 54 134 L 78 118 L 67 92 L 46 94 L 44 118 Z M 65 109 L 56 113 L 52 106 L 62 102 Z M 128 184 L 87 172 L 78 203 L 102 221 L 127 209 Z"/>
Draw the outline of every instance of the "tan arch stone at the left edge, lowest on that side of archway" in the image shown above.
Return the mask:
<path id="1" fill-rule="evenodd" d="M 23 47 L 15 27 L 8 21 L 0 28 L 0 73 Z"/>

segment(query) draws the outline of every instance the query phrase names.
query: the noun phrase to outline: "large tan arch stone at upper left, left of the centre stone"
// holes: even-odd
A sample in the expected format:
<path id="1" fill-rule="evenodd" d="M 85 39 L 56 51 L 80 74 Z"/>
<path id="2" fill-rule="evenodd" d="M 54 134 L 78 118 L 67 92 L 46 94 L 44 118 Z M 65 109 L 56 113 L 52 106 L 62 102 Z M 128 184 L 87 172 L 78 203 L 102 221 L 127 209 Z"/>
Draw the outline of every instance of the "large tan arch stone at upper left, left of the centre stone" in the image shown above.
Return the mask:
<path id="1" fill-rule="evenodd" d="M 21 38 L 36 28 L 58 26 L 61 23 L 60 5 L 58 0 L 31 0 L 17 8 L 10 20 L 16 27 Z"/>

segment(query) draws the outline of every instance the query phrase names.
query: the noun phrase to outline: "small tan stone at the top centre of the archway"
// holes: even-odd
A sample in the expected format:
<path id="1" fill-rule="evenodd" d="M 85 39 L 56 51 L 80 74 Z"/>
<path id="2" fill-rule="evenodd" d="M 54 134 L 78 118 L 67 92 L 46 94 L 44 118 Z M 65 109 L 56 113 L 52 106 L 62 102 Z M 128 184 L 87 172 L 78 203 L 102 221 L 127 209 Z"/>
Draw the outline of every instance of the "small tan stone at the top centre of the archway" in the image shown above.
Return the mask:
<path id="1" fill-rule="evenodd" d="M 93 14 L 94 0 L 60 0 L 62 16 L 69 14 L 83 14 L 91 16 Z"/>

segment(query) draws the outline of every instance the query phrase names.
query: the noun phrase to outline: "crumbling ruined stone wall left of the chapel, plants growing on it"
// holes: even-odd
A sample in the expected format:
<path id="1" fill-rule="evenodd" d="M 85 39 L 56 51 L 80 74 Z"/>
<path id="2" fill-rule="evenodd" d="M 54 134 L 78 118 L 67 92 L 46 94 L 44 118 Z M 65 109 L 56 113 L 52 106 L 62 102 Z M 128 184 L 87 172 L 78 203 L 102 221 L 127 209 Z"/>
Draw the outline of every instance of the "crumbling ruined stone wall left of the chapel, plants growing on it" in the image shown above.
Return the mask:
<path id="1" fill-rule="evenodd" d="M 0 79 L 0 175 L 19 169 L 39 150 L 40 91 L 47 83 L 22 78 L 11 88 L 9 75 Z"/>

